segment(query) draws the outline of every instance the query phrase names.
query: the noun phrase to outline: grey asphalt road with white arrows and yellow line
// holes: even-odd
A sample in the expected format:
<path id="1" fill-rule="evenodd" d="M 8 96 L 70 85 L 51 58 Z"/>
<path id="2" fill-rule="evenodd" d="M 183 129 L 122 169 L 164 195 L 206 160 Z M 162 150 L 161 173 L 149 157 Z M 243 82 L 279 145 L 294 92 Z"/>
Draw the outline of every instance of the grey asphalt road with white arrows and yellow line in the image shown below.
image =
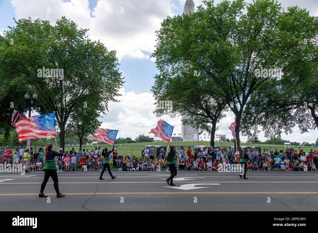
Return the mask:
<path id="1" fill-rule="evenodd" d="M 318 172 L 247 172 L 247 180 L 238 173 L 217 171 L 178 171 L 171 188 L 164 179 L 170 172 L 58 172 L 59 189 L 64 198 L 56 198 L 52 179 L 45 188 L 50 197 L 39 198 L 44 172 L 0 173 L 0 211 L 127 211 L 127 210 L 317 210 Z M 269 202 L 270 201 L 270 202 Z"/>

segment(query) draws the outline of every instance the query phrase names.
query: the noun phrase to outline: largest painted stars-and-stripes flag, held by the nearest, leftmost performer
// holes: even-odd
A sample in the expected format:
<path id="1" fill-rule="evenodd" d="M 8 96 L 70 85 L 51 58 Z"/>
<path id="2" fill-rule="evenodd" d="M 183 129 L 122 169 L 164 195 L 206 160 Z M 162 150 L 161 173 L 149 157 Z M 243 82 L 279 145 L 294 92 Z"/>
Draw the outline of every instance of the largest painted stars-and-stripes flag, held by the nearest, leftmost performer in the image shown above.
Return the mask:
<path id="1" fill-rule="evenodd" d="M 15 123 L 19 143 L 26 139 L 56 137 L 55 113 L 29 117 Z"/>

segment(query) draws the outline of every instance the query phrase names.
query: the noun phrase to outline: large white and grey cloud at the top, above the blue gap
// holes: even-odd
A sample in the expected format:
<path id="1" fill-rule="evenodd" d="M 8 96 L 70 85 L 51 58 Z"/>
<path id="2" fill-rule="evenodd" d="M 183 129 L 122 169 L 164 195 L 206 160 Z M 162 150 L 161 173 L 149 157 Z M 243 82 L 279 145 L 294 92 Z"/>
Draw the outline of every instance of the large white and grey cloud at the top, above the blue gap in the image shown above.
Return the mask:
<path id="1" fill-rule="evenodd" d="M 72 19 L 79 28 L 89 29 L 90 39 L 116 50 L 120 60 L 148 59 L 156 44 L 155 31 L 164 18 L 176 14 L 169 0 L 99 0 L 92 12 L 88 0 L 11 0 L 11 4 L 17 19 L 30 16 L 52 24 L 61 16 Z"/>

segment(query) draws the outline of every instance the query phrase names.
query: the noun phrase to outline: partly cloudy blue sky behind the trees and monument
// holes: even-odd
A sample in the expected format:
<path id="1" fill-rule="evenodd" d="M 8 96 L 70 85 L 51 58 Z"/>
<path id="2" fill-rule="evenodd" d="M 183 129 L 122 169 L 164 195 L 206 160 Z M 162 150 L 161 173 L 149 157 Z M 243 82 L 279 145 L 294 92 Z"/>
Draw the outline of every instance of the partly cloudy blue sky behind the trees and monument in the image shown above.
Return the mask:
<path id="1" fill-rule="evenodd" d="M 216 0 L 215 3 L 219 3 Z M 251 2 L 251 0 L 247 0 Z M 154 51 L 155 31 L 160 29 L 164 18 L 182 14 L 185 0 L 0 0 L 0 33 L 7 26 L 14 26 L 16 19 L 31 17 L 49 20 L 52 24 L 61 16 L 75 21 L 79 28 L 88 28 L 91 40 L 99 40 L 108 49 L 117 51 L 120 70 L 125 77 L 119 103 L 111 103 L 109 112 L 101 118 L 103 128 L 119 129 L 119 136 L 135 138 L 148 134 L 159 120 L 152 113 L 154 97 L 150 91 L 154 76 L 158 74 L 156 64 L 149 55 Z M 196 6 L 200 0 L 194 0 Z M 283 7 L 298 5 L 307 8 L 311 15 L 318 16 L 318 0 L 280 0 Z M 229 112 L 221 120 L 218 134 L 231 138 L 227 128 L 234 115 Z M 181 117 L 171 119 L 162 116 L 175 125 L 174 133 L 181 133 Z M 300 134 L 295 127 L 292 135 L 283 139 L 298 142 L 315 142 L 317 131 Z M 265 140 L 263 133 L 260 140 Z M 242 137 L 246 141 L 246 137 Z"/>

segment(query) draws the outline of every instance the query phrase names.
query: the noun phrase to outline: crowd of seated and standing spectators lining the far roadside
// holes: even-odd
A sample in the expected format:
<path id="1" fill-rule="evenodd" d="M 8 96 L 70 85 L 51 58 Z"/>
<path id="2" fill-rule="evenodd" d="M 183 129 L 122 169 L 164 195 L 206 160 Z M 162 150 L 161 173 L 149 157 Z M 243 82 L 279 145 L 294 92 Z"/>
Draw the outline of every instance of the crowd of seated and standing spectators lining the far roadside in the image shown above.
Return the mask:
<path id="1" fill-rule="evenodd" d="M 289 148 L 286 151 L 283 149 L 275 149 L 269 152 L 268 149 L 259 151 L 258 148 L 247 148 L 248 171 L 259 171 L 260 169 L 271 171 L 277 169 L 281 171 L 315 171 L 318 163 L 317 150 L 310 150 L 309 153 L 302 149 L 298 153 L 294 148 Z M 179 171 L 218 171 L 224 169 L 227 165 L 237 165 L 240 161 L 241 150 L 233 150 L 225 148 L 204 147 L 197 148 L 193 151 L 190 147 L 185 150 L 183 146 L 176 151 L 176 166 Z M 1 148 L 0 152 L 0 167 L 6 162 L 7 166 L 12 165 L 12 168 L 21 166 L 26 167 L 29 172 L 43 171 L 44 166 L 44 149 L 40 147 L 30 148 L 25 150 L 22 146 L 11 150 L 9 147 Z M 137 159 L 135 156 L 129 157 L 118 155 L 117 149 L 114 149 L 110 157 L 110 163 L 113 167 L 120 167 L 124 171 L 161 171 L 168 167 L 166 160 L 166 151 L 163 150 L 155 159 L 153 149 L 146 147 L 143 150 L 142 158 Z M 95 147 L 89 152 L 89 149 L 78 149 L 78 152 L 72 148 L 71 151 L 65 151 L 63 156 L 56 157 L 56 165 L 58 171 L 76 171 L 80 169 L 87 171 L 101 171 L 103 169 L 103 156 L 101 156 L 100 147 Z"/>

